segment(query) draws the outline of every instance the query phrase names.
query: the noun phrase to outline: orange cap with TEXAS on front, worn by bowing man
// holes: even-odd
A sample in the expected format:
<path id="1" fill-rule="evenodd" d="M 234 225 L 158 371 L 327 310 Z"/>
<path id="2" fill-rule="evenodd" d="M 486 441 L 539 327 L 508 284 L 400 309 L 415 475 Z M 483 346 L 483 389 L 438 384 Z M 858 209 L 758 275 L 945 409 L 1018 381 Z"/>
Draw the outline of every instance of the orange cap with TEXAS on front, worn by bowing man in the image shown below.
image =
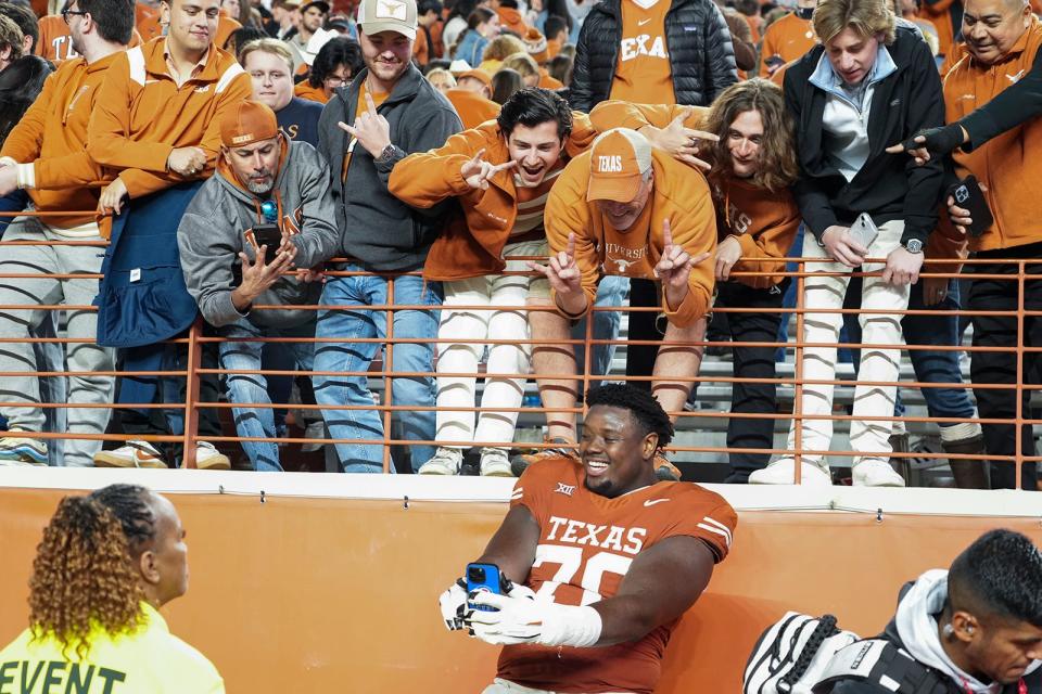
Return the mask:
<path id="1" fill-rule="evenodd" d="M 594 140 L 589 153 L 586 200 L 628 203 L 637 196 L 651 168 L 651 143 L 630 128 L 608 130 Z"/>

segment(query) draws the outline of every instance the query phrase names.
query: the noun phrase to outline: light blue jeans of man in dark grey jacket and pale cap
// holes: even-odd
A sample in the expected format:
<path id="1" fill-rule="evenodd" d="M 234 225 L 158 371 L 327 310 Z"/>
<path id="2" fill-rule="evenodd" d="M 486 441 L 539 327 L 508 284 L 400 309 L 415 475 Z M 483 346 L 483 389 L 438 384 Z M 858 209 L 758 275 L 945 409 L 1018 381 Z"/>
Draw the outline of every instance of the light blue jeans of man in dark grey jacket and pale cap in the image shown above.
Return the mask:
<path id="1" fill-rule="evenodd" d="M 360 272 L 356 264 L 345 264 L 344 271 Z M 441 282 L 424 282 L 423 278 L 399 277 L 394 280 L 394 303 L 408 306 L 442 305 Z M 384 338 L 387 334 L 386 311 L 357 308 L 385 305 L 387 280 L 382 277 L 342 277 L 326 283 L 322 304 L 356 307 L 319 311 L 315 336 L 335 337 L 339 343 L 318 343 L 315 349 L 315 371 L 365 372 L 377 354 L 378 343 L 358 339 Z M 394 311 L 394 336 L 433 340 L 437 337 L 439 310 Z M 392 363 L 384 364 L 390 372 L 407 371 L 431 373 L 430 376 L 395 377 L 391 397 L 384 401 L 396 406 L 432 408 L 408 412 L 401 417 L 404 438 L 414 441 L 434 440 L 434 344 L 420 342 L 395 344 Z M 385 360 L 386 361 L 386 360 Z M 373 408 L 366 375 L 315 376 L 315 400 L 321 406 L 359 406 L 360 410 L 322 410 L 330 437 L 343 439 L 372 439 L 382 441 L 383 416 Z M 433 454 L 434 447 L 411 446 L 412 471 L 416 472 Z M 345 473 L 383 472 L 382 444 L 336 444 L 336 455 Z"/>

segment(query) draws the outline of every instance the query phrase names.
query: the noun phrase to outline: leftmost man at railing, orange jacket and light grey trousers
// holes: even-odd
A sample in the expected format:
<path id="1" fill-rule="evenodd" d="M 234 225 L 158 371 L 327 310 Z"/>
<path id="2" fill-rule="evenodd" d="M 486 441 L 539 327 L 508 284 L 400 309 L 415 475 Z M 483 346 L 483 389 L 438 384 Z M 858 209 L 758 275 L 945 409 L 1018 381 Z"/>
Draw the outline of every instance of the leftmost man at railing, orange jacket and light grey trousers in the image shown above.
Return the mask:
<path id="1" fill-rule="evenodd" d="M 76 54 L 43 85 L 43 91 L 0 151 L 0 196 L 24 189 L 41 213 L 62 216 L 22 217 L 8 229 L 4 241 L 102 243 L 93 210 L 105 175 L 84 151 L 87 124 L 98 99 L 98 87 L 109 67 L 127 49 L 134 30 L 134 5 L 129 0 L 74 0 L 67 8 L 68 29 Z M 2 273 L 36 277 L 7 279 L 0 285 L 0 304 L 24 309 L 0 311 L 0 334 L 8 344 L 0 350 L 0 371 L 31 372 L 37 369 L 29 331 L 48 316 L 37 307 L 48 304 L 86 306 L 98 294 L 98 280 L 43 275 L 97 273 L 101 269 L 98 245 L 12 245 L 0 260 Z M 90 344 L 97 336 L 97 314 L 68 311 L 68 336 L 89 340 L 68 346 L 68 402 L 96 406 L 112 399 L 114 380 L 94 372 L 112 371 L 114 354 Z M 16 339 L 11 339 L 16 338 Z M 39 378 L 34 375 L 2 378 L 5 400 L 24 402 L 3 408 L 12 434 L 0 439 L 0 464 L 46 465 L 47 444 L 18 436 L 15 430 L 39 433 L 45 416 L 39 407 Z M 73 408 L 67 412 L 69 434 L 103 434 L 111 411 L 106 408 Z M 101 441 L 69 439 L 64 446 L 66 465 L 90 466 Z"/>

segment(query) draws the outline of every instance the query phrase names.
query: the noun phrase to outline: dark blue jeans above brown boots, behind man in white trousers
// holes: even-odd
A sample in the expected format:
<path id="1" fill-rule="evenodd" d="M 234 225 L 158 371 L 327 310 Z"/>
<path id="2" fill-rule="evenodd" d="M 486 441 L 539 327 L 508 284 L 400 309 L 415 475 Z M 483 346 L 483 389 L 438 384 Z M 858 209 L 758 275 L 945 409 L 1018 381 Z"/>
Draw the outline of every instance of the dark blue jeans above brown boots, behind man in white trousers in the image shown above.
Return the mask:
<path id="1" fill-rule="evenodd" d="M 856 281 L 851 281 L 854 286 Z M 851 291 L 848 296 L 857 296 Z M 912 285 L 912 292 L 908 297 L 910 310 L 958 310 L 958 282 L 953 280 L 949 282 L 948 294 L 944 300 L 938 306 L 926 306 L 923 303 L 923 282 L 916 282 Z M 847 334 L 852 343 L 861 342 L 861 325 L 857 323 L 857 317 L 853 313 L 844 313 Z M 901 319 L 901 329 L 904 332 L 904 342 L 906 345 L 936 345 L 938 347 L 950 347 L 958 343 L 958 317 L 954 313 L 941 313 L 936 316 L 905 316 Z M 855 350 L 851 350 L 855 351 Z M 929 349 L 910 349 L 908 358 L 912 360 L 912 368 L 915 370 L 915 377 L 920 383 L 963 383 L 963 373 L 958 368 L 958 352 L 953 350 L 931 351 Z M 854 359 L 854 369 L 856 370 L 859 360 Z M 958 417 L 962 420 L 971 420 L 977 413 L 974 410 L 974 403 L 969 399 L 969 394 L 962 387 L 950 388 L 923 388 L 923 398 L 926 400 L 926 409 L 930 416 Z M 894 404 L 894 416 L 904 415 L 904 403 L 900 396 Z M 951 426 L 949 423 L 938 424 L 938 426 Z"/>

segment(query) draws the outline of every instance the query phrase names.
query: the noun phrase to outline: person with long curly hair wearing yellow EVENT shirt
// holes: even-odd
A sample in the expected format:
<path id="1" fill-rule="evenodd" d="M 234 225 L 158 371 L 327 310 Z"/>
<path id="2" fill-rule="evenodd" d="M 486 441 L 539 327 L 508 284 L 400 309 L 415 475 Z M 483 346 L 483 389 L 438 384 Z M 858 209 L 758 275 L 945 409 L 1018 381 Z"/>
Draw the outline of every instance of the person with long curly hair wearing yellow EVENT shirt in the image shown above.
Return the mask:
<path id="1" fill-rule="evenodd" d="M 132 485 L 65 497 L 36 551 L 29 628 L 0 651 L 0 687 L 223 693 L 217 669 L 158 613 L 187 590 L 174 504 Z"/>

